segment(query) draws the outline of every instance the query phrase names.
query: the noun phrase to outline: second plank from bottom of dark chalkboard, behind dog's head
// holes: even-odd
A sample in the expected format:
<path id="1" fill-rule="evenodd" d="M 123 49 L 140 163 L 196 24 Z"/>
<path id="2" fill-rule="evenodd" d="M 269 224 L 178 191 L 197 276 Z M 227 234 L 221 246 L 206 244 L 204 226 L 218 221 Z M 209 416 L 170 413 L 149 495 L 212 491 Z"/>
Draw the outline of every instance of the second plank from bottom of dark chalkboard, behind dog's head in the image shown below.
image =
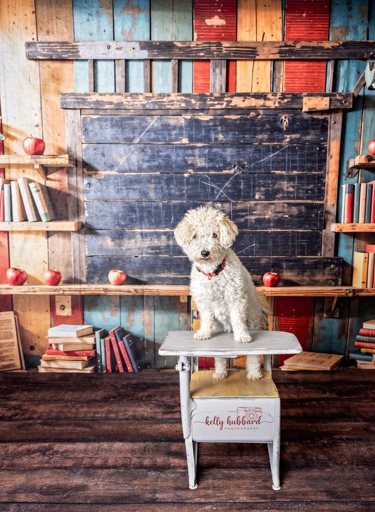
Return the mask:
<path id="1" fill-rule="evenodd" d="M 320 256 L 319 231 L 240 231 L 232 249 L 241 256 Z M 86 256 L 181 256 L 173 230 L 86 230 Z"/>

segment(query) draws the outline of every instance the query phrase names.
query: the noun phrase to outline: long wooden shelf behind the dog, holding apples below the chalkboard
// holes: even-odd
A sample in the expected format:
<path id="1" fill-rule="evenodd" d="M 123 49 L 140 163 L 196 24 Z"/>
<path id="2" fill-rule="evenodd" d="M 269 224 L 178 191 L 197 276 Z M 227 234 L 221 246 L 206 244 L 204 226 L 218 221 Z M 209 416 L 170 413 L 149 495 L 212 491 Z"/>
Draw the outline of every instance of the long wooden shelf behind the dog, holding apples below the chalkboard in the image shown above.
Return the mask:
<path id="1" fill-rule="evenodd" d="M 270 297 L 356 297 L 375 296 L 375 288 L 354 288 L 353 286 L 257 286 L 258 293 Z M 154 295 L 189 296 L 187 285 L 163 284 L 24 284 L 9 286 L 0 284 L 0 295 Z"/>

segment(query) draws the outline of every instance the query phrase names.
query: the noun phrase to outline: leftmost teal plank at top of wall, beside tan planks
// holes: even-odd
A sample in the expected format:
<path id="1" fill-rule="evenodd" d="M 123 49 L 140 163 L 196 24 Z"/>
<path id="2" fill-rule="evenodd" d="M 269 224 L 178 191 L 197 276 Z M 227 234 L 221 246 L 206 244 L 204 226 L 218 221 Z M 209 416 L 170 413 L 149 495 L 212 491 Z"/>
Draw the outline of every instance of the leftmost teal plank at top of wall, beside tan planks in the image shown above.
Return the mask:
<path id="1" fill-rule="evenodd" d="M 73 0 L 74 39 L 76 41 L 113 40 L 112 0 Z M 87 61 L 75 61 L 74 83 L 76 91 L 88 91 Z M 94 64 L 94 90 L 115 91 L 115 65 L 113 61 Z"/>

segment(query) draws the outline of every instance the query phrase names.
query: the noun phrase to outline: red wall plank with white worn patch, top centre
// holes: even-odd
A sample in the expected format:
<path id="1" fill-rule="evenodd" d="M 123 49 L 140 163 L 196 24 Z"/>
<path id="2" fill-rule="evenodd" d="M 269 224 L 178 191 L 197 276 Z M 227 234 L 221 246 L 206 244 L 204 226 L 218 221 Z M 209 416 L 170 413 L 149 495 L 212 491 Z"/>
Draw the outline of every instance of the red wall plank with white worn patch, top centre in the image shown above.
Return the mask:
<path id="1" fill-rule="evenodd" d="M 195 0 L 194 40 L 235 41 L 237 36 L 237 1 Z M 193 63 L 194 92 L 210 92 L 210 62 Z M 230 61 L 227 71 L 227 91 L 236 91 L 236 63 Z"/>

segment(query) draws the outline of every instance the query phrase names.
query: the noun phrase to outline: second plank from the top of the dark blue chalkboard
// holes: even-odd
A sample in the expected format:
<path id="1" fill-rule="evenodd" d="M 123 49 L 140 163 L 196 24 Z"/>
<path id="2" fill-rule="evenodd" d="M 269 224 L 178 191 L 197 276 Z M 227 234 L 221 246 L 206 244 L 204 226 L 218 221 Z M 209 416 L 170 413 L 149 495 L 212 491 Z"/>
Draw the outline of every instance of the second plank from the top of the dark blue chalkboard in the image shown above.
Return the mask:
<path id="1" fill-rule="evenodd" d="M 84 144 L 83 164 L 90 172 L 324 172 L 327 165 L 327 146 Z"/>

